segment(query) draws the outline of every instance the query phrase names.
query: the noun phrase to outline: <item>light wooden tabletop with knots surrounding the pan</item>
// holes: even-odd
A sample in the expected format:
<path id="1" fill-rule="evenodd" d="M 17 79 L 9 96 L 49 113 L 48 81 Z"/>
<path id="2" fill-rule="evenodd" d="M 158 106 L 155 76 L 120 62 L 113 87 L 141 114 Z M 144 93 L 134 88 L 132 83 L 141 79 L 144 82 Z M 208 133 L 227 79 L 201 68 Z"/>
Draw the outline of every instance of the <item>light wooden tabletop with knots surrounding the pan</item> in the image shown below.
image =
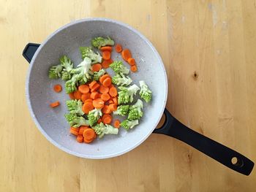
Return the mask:
<path id="1" fill-rule="evenodd" d="M 256 161 L 256 1 L 0 0 L 0 191 L 255 191 L 176 139 L 152 134 L 117 158 L 64 153 L 39 133 L 25 98 L 27 42 L 72 20 L 106 17 L 137 28 L 167 69 L 167 109 L 195 131 Z"/>

